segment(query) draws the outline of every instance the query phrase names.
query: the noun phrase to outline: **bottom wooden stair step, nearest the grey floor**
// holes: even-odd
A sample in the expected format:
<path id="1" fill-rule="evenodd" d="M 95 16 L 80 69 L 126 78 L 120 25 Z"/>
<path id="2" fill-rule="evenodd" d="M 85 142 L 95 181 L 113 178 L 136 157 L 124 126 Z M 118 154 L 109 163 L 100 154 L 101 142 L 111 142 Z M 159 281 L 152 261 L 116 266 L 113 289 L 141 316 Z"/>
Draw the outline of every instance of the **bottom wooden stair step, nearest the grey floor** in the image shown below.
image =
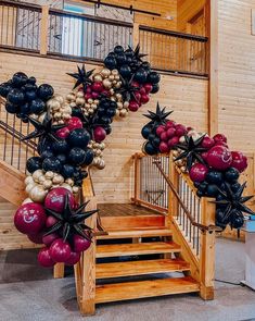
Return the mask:
<path id="1" fill-rule="evenodd" d="M 199 292 L 199 283 L 191 276 L 98 285 L 95 303 L 111 303 L 170 294 Z"/>

